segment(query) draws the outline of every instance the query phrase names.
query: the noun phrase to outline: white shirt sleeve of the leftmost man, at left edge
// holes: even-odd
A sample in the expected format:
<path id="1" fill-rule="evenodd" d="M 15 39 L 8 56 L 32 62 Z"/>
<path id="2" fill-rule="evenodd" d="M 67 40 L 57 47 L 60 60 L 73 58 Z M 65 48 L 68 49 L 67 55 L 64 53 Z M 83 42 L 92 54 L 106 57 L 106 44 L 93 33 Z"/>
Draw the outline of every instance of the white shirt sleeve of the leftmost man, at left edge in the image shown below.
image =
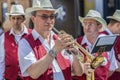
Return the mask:
<path id="1" fill-rule="evenodd" d="M 0 36 L 0 80 L 3 80 L 5 71 L 5 49 L 4 49 L 4 34 Z"/>

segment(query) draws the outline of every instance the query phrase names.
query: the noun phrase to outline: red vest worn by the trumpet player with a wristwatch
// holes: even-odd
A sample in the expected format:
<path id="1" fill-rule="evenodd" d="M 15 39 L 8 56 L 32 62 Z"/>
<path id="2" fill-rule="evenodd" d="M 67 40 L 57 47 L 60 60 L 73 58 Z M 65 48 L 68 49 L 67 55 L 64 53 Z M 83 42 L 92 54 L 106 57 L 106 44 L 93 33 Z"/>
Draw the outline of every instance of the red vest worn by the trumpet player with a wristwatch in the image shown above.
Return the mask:
<path id="1" fill-rule="evenodd" d="M 54 38 L 56 39 L 56 37 L 54 37 Z M 44 46 L 41 44 L 39 39 L 34 41 L 32 34 L 25 37 L 25 39 L 29 42 L 30 46 L 32 47 L 37 60 L 46 54 L 46 50 L 45 50 Z M 71 80 L 72 78 L 71 78 L 70 61 L 67 59 L 64 59 L 60 53 L 58 53 L 56 60 L 63 72 L 65 80 Z M 29 76 L 29 77 L 25 77 L 25 80 L 33 80 L 33 79 Z M 46 72 L 44 72 L 44 74 L 42 74 L 36 80 L 53 80 L 52 64 L 49 66 L 49 68 L 46 70 Z"/>

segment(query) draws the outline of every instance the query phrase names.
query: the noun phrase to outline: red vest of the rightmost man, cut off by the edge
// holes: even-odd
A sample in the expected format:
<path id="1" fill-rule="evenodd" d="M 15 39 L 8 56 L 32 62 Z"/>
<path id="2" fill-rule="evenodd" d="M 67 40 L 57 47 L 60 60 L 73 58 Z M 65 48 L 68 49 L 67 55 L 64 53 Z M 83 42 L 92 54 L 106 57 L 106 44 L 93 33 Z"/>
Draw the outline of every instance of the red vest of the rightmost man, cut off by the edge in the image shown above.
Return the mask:
<path id="1" fill-rule="evenodd" d="M 109 35 L 106 31 L 103 31 L 101 33 Z M 117 41 L 114 45 L 114 50 L 115 50 L 115 57 L 120 62 L 120 60 L 118 59 L 118 54 L 120 54 L 120 36 L 117 38 Z M 108 78 L 108 80 L 119 80 L 119 79 L 120 79 L 120 72 L 116 72 L 116 71 Z"/>

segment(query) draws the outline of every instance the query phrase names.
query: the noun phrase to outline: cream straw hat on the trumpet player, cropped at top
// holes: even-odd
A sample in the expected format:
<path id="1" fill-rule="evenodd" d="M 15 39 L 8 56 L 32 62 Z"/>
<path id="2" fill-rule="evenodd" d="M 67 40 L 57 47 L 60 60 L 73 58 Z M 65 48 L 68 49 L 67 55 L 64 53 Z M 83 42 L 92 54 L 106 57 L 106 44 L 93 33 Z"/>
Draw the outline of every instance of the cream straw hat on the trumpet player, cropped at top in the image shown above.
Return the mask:
<path id="1" fill-rule="evenodd" d="M 50 0 L 33 0 L 32 7 L 26 9 L 26 13 L 31 13 L 38 10 L 57 11 L 53 8 Z"/>

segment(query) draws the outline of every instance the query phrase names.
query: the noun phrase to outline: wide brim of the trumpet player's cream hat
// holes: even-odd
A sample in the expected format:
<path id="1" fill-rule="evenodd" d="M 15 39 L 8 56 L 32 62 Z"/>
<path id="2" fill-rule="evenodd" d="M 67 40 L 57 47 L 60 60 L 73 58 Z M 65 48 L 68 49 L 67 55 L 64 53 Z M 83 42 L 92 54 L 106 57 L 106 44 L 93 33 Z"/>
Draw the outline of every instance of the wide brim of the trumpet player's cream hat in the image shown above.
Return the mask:
<path id="1" fill-rule="evenodd" d="M 50 8 L 40 8 L 40 7 L 34 7 L 34 8 L 27 8 L 25 10 L 26 14 L 30 14 L 33 11 L 38 11 L 38 10 L 46 10 L 46 11 L 53 11 L 55 14 L 58 12 L 57 9 L 50 9 Z"/>

